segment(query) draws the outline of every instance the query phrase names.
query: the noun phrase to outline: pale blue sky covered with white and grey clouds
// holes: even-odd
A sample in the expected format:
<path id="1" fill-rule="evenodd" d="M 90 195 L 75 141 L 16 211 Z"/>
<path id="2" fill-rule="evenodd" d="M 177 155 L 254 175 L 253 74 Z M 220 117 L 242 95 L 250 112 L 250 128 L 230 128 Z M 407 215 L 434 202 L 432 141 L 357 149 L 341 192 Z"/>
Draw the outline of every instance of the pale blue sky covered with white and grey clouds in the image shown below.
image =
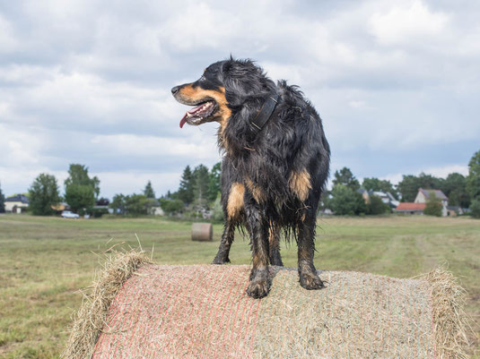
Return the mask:
<path id="1" fill-rule="evenodd" d="M 217 124 L 179 128 L 171 87 L 251 58 L 301 87 L 323 119 L 331 173 L 393 183 L 467 175 L 480 150 L 480 3 L 90 1 L 0 3 L 0 186 L 69 164 L 100 195 L 175 191 L 221 160 Z"/>

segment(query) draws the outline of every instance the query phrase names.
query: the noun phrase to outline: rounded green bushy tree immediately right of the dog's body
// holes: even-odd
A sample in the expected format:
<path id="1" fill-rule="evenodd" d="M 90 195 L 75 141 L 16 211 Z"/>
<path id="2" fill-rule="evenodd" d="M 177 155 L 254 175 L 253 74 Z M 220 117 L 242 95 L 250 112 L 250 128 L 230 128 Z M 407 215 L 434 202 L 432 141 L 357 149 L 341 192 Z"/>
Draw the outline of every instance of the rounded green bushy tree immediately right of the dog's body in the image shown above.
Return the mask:
<path id="1" fill-rule="evenodd" d="M 362 194 L 344 184 L 336 184 L 332 189 L 332 198 L 328 206 L 336 215 L 359 215 L 366 212 Z"/>

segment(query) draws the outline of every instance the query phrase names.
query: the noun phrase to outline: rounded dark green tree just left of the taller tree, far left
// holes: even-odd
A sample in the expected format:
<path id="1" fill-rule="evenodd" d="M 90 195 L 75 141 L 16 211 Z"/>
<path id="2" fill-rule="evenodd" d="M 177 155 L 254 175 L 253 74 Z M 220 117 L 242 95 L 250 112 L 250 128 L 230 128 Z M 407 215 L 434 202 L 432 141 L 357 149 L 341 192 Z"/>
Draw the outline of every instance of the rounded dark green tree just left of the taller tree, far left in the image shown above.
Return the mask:
<path id="1" fill-rule="evenodd" d="M 29 189 L 29 207 L 36 216 L 48 216 L 55 212 L 52 206 L 60 201 L 57 178 L 54 175 L 40 174 Z"/>

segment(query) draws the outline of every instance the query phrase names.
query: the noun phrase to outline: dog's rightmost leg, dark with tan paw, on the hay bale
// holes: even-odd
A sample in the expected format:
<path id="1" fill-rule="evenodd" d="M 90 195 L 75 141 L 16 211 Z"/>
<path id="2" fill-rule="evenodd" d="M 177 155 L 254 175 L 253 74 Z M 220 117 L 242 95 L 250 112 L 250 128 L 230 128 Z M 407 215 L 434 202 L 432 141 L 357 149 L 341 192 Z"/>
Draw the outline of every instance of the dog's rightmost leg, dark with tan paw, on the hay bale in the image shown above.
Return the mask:
<path id="1" fill-rule="evenodd" d="M 319 289 L 324 287 L 313 265 L 315 251 L 315 225 L 316 218 L 306 218 L 299 223 L 298 231 L 298 265 L 300 285 L 305 289 Z"/>

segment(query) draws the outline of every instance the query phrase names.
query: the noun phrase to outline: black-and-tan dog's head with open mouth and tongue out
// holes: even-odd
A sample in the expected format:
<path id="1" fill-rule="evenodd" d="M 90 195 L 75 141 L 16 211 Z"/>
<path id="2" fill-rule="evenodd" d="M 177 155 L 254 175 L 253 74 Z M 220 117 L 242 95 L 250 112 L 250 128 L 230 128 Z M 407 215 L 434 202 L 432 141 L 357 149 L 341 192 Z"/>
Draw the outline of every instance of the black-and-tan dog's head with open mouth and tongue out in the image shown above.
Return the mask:
<path id="1" fill-rule="evenodd" d="M 272 87 L 273 81 L 252 61 L 231 58 L 211 64 L 198 80 L 175 86 L 171 93 L 180 103 L 193 106 L 180 127 L 213 121 L 225 125 L 247 102 L 260 103 Z"/>

